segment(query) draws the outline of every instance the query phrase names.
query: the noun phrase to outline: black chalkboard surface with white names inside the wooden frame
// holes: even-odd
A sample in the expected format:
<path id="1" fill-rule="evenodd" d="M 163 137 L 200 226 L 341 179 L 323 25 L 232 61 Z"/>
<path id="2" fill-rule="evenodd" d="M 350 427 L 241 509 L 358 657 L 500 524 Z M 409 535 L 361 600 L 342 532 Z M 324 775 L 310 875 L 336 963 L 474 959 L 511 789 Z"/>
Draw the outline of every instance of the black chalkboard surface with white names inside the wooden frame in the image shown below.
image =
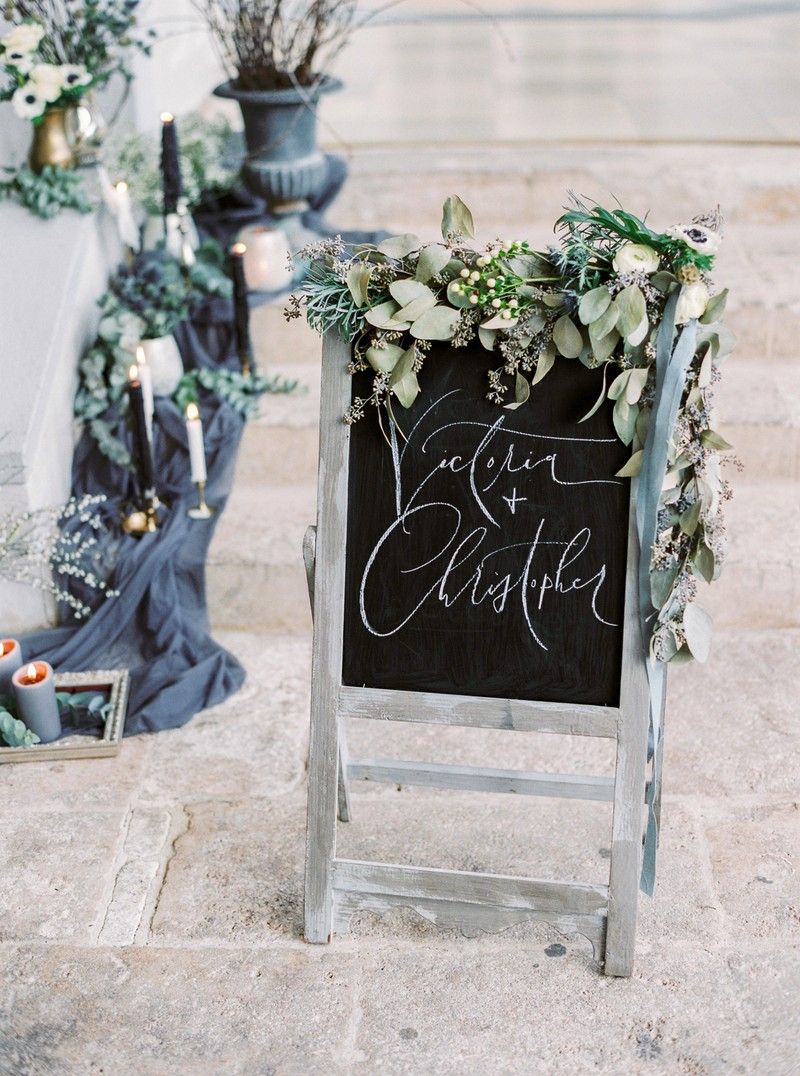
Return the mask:
<path id="1" fill-rule="evenodd" d="M 342 683 L 618 706 L 630 450 L 609 405 L 577 423 L 600 371 L 559 358 L 511 411 L 493 357 L 435 345 L 394 452 L 352 427 Z"/>

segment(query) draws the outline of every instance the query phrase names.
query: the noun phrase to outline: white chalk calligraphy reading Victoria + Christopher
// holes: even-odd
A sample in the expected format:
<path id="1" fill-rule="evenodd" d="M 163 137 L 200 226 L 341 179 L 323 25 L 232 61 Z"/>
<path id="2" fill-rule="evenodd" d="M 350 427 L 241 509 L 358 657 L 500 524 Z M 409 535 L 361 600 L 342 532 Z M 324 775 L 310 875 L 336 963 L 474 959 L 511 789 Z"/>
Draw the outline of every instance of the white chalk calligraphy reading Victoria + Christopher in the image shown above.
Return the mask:
<path id="1" fill-rule="evenodd" d="M 361 578 L 364 627 L 373 636 L 388 638 L 437 604 L 444 609 L 457 604 L 480 607 L 497 617 L 514 606 L 536 646 L 547 651 L 548 611 L 575 596 L 585 599 L 600 624 L 617 627 L 604 611 L 608 567 L 592 546 L 591 527 L 565 526 L 563 514 L 549 510 L 546 494 L 548 485 L 622 484 L 617 479 L 574 473 L 574 453 L 570 467 L 560 463 L 559 442 L 607 443 L 609 439 L 520 430 L 507 425 L 507 415 L 492 424 L 437 425 L 437 409 L 452 395 L 447 393 L 429 407 L 402 449 L 393 430 L 396 513 L 373 548 Z M 459 434 L 459 453 L 447 449 L 448 433 L 453 430 Z M 464 451 L 464 435 L 473 433 L 474 444 Z M 408 483 L 413 489 L 406 494 L 409 453 L 415 454 L 417 473 L 416 484 Z M 419 481 L 423 456 L 430 463 Z M 460 475 L 464 481 L 454 482 L 453 476 Z M 523 513 L 530 538 L 504 541 L 504 520 Z M 388 583 L 394 587 L 391 612 L 383 599 Z"/>

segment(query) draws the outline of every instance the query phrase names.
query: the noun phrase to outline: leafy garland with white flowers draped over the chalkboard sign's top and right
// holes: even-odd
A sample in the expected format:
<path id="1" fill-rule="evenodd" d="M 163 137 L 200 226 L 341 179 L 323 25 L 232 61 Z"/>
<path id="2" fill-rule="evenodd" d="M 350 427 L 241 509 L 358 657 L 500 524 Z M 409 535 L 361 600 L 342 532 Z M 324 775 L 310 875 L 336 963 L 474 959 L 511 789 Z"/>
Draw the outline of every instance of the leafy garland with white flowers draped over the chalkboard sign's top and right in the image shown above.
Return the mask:
<path id="1" fill-rule="evenodd" d="M 731 445 L 712 426 L 719 366 L 733 345 L 721 324 L 727 291 L 712 295 L 708 272 L 720 238 L 718 213 L 659 232 L 624 210 L 587 206 L 574 196 L 556 225 L 558 243 L 535 251 L 524 241 L 468 246 L 473 216 L 453 196 L 444 208 L 444 243 L 403 235 L 347 249 L 340 238 L 300 256 L 310 270 L 286 317 L 352 341 L 350 372 L 373 370 L 368 406 L 410 407 L 433 341 L 486 348 L 487 396 L 522 407 L 553 364 L 577 360 L 606 376 L 590 417 L 608 399 L 614 425 L 631 447 L 621 477 L 640 472 L 655 394 L 656 337 L 666 300 L 679 291 L 676 331 L 699 321 L 697 349 L 683 393 L 661 495 L 650 564 L 659 609 L 651 637 L 660 661 L 703 660 L 710 624 L 693 606 L 698 580 L 719 576 L 726 554 L 724 506 L 731 496 L 720 453 Z M 492 363 L 492 358 L 495 360 Z M 497 362 L 499 358 L 499 362 Z M 686 610 L 692 607 L 686 629 Z"/>

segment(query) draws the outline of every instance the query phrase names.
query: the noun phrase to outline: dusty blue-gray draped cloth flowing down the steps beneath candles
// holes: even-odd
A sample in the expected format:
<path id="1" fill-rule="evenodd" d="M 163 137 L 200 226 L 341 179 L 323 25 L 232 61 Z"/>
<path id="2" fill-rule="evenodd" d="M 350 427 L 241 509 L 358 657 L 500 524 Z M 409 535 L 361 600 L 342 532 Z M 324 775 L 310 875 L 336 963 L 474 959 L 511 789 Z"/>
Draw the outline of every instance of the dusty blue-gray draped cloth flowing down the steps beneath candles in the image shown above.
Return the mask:
<path id="1" fill-rule="evenodd" d="M 231 310 L 214 299 L 176 334 L 188 369 L 230 365 Z M 200 398 L 208 461 L 207 499 L 217 508 L 211 520 L 192 520 L 196 502 L 190 479 L 183 415 L 166 397 L 156 399 L 153 451 L 157 491 L 166 504 L 155 534 L 134 538 L 118 533 L 123 506 L 135 493 L 130 471 L 112 464 L 84 434 L 73 463 L 73 493 L 103 493 L 102 506 L 115 534 L 104 551 L 114 562 L 116 597 L 103 601 L 90 620 L 29 635 L 25 660 L 39 659 L 58 671 L 127 667 L 131 692 L 126 735 L 185 724 L 195 713 L 223 702 L 244 681 L 239 662 L 216 643 L 208 628 L 206 557 L 230 493 L 242 420 L 214 396 Z M 130 444 L 121 415 L 114 433 Z M 88 596 L 88 595 L 86 595 Z M 88 728 L 86 730 L 89 731 Z"/>

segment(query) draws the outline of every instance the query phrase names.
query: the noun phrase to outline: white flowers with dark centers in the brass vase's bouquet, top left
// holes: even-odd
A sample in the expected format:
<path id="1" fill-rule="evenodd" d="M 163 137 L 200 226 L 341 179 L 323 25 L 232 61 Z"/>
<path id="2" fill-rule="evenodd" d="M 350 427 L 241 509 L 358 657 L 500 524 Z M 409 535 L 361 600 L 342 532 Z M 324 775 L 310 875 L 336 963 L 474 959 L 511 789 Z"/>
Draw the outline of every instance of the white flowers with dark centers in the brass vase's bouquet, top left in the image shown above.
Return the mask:
<path id="1" fill-rule="evenodd" d="M 46 62 L 42 55 L 44 37 L 43 26 L 25 22 L 0 38 L 0 62 L 9 75 L 0 100 L 10 100 L 22 119 L 33 123 L 48 109 L 74 104 L 94 82 L 80 63 Z"/>

